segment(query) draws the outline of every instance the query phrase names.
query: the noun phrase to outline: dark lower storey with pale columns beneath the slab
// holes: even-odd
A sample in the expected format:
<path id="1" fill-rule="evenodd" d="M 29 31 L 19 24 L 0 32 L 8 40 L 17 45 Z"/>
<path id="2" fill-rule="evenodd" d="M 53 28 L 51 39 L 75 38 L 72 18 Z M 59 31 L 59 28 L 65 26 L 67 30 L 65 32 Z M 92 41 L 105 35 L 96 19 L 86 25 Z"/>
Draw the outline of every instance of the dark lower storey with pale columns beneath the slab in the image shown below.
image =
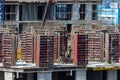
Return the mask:
<path id="1" fill-rule="evenodd" d="M 4 69 L 6 70 L 6 69 Z M 9 72 L 7 72 L 9 71 Z M 2 80 L 120 80 L 120 70 L 73 70 L 70 71 L 35 71 L 35 72 L 16 72 L 8 69 L 6 72 L 0 72 Z M 29 69 L 30 71 L 30 69 Z"/>

